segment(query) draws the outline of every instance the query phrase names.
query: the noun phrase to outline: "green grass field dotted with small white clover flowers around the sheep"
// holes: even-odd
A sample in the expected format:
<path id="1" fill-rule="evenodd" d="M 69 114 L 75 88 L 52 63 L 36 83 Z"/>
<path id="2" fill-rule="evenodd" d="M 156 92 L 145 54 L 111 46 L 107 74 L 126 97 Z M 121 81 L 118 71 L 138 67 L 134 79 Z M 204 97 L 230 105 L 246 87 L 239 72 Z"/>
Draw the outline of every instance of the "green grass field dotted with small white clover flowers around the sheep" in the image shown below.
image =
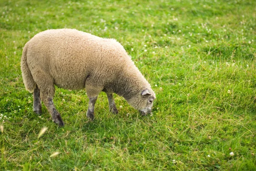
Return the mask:
<path id="1" fill-rule="evenodd" d="M 33 113 L 22 49 L 59 28 L 119 41 L 157 94 L 153 114 L 115 96 L 113 115 L 101 93 L 88 122 L 85 90 L 61 88 L 65 127 Z M 0 170 L 256 171 L 255 41 L 254 0 L 0 0 Z"/>

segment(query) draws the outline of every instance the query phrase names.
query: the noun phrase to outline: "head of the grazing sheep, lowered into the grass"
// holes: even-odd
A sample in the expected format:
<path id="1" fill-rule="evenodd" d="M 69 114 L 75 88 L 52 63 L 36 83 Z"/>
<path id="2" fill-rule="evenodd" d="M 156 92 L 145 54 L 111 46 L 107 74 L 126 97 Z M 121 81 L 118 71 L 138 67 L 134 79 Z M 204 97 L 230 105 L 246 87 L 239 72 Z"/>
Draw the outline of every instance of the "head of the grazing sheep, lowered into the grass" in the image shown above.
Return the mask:
<path id="1" fill-rule="evenodd" d="M 156 99 L 154 91 L 148 88 L 137 94 L 137 96 L 129 99 L 128 103 L 139 110 L 141 115 L 145 116 L 151 113 L 154 99 Z"/>

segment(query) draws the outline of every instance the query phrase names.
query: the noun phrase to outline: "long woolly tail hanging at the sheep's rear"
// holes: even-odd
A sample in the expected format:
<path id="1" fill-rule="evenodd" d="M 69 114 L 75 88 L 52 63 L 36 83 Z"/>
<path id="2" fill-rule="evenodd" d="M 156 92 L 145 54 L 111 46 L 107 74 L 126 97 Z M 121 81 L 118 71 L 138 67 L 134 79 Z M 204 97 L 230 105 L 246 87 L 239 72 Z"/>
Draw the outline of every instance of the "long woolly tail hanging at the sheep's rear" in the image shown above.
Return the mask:
<path id="1" fill-rule="evenodd" d="M 29 92 L 33 92 L 33 90 L 36 87 L 36 83 L 31 75 L 31 72 L 29 70 L 29 66 L 27 63 L 27 58 L 26 58 L 27 49 L 28 49 L 28 45 L 26 44 L 22 52 L 20 68 L 21 68 L 22 78 L 23 78 L 23 82 L 26 90 L 28 90 Z"/>

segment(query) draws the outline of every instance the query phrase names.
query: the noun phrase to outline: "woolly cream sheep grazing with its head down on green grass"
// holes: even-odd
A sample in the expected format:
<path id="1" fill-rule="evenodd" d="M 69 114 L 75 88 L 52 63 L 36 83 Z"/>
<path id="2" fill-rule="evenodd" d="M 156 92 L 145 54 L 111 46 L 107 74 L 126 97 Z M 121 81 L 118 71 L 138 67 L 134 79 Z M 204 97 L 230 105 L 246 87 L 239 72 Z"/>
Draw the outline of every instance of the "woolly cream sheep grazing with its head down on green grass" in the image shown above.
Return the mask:
<path id="1" fill-rule="evenodd" d="M 109 110 L 118 110 L 113 93 L 142 115 L 151 112 L 156 98 L 150 84 L 114 39 L 100 38 L 76 29 L 50 29 L 28 41 L 21 57 L 26 90 L 33 92 L 33 111 L 41 115 L 41 100 L 52 121 L 64 126 L 55 108 L 55 86 L 69 90 L 85 89 L 89 98 L 87 117 L 94 119 L 94 105 L 101 91 L 108 97 Z"/>

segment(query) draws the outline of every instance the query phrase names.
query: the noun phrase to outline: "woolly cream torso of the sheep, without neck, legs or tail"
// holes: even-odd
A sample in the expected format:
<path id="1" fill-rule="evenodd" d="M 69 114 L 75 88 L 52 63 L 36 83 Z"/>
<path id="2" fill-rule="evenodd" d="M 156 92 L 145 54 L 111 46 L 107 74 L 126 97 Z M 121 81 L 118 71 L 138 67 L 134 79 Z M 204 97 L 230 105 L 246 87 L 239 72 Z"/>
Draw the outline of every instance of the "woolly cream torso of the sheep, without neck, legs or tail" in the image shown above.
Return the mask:
<path id="1" fill-rule="evenodd" d="M 47 30 L 28 42 L 32 72 L 44 72 L 65 89 L 82 89 L 88 78 L 95 86 L 111 84 L 127 54 L 119 43 L 75 29 Z"/>

